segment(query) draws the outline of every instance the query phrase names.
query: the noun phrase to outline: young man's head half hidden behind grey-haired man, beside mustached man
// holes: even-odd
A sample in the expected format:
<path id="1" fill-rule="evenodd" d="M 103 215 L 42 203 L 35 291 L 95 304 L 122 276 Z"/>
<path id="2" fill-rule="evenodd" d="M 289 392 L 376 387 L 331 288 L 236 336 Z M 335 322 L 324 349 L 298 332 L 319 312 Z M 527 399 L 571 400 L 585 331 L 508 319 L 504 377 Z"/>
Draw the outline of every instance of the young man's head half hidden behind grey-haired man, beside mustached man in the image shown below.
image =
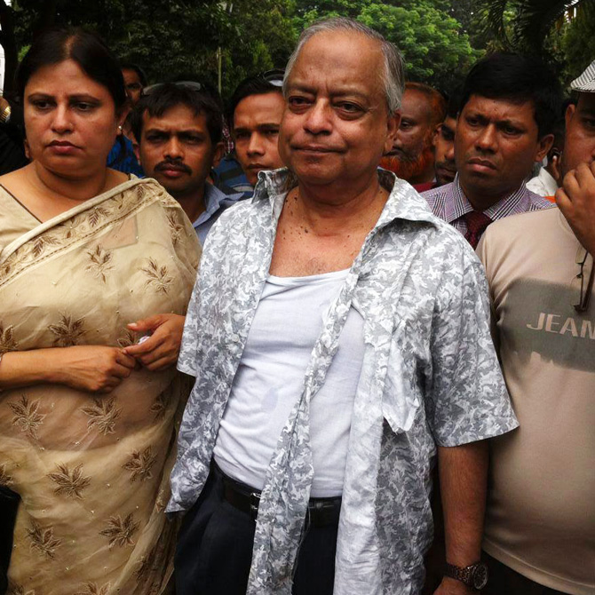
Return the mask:
<path id="1" fill-rule="evenodd" d="M 276 69 L 244 79 L 229 102 L 227 120 L 235 156 L 252 186 L 259 171 L 283 165 L 277 147 L 285 107 L 283 74 Z"/>

